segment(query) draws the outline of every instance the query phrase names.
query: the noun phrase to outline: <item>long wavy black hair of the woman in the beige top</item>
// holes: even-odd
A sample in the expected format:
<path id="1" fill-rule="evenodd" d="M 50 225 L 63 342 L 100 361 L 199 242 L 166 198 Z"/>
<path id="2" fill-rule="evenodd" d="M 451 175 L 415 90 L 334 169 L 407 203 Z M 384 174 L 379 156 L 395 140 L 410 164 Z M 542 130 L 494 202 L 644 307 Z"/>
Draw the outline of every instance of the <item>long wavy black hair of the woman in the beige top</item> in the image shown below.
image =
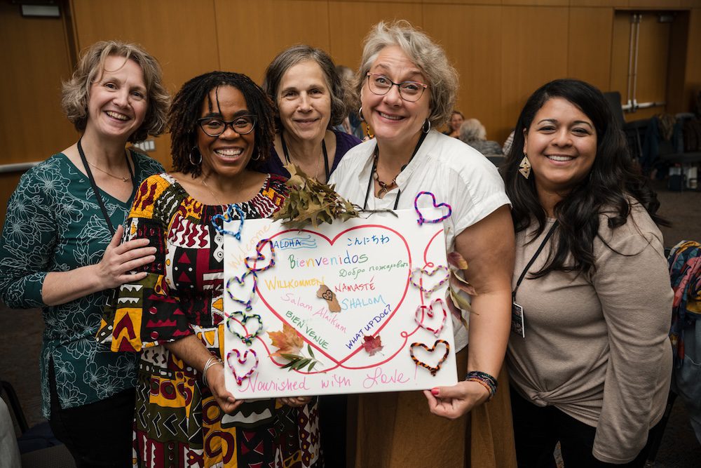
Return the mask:
<path id="1" fill-rule="evenodd" d="M 634 170 L 621 124 L 613 117 L 601 91 L 577 79 L 557 79 L 545 83 L 526 101 L 516 124 L 514 143 L 502 168 L 516 232 L 536 222 L 538 229 L 532 241 L 545 229 L 547 214 L 538 201 L 535 178 L 523 178 L 519 174 L 519 164 L 524 157 L 524 133 L 531 127 L 538 110 L 552 98 L 571 102 L 592 120 L 597 131 L 597 155 L 589 176 L 554 206 L 554 216 L 560 226 L 555 241 L 557 247 L 551 250 L 545 266 L 534 273 L 533 278 L 554 270 L 594 272 L 594 239 L 599 236 L 599 215 L 606 211 L 611 229 L 625 225 L 631 209 L 629 199 L 644 206 L 655 223 L 669 226 L 664 218 L 655 215 L 660 207 L 657 195 L 647 180 Z M 568 260 L 569 255 L 571 260 Z"/>

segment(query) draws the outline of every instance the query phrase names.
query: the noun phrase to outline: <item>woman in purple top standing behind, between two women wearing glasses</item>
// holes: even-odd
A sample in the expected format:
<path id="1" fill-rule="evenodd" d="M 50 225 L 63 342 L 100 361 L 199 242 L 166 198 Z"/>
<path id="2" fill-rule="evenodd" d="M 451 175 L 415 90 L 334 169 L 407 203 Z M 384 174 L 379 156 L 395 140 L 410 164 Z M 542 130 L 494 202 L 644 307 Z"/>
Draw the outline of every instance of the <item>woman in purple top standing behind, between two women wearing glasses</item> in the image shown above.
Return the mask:
<path id="1" fill-rule="evenodd" d="M 327 182 L 358 138 L 332 127 L 348 115 L 348 87 L 329 55 L 298 45 L 285 49 L 266 69 L 263 89 L 275 104 L 277 133 L 262 171 L 290 177 L 294 163 L 307 175 Z"/>

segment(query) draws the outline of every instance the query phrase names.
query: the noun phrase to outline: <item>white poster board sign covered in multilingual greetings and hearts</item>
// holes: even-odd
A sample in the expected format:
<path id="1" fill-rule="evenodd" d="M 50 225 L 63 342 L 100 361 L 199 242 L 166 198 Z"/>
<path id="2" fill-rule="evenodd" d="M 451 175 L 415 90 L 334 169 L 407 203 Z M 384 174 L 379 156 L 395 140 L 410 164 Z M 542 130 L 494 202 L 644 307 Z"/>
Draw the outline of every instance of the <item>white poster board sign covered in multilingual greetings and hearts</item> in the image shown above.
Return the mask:
<path id="1" fill-rule="evenodd" d="M 456 384 L 443 225 L 395 213 L 301 230 L 246 220 L 240 241 L 225 236 L 223 357 L 236 398 Z M 305 365 L 283 368 L 290 354 Z"/>

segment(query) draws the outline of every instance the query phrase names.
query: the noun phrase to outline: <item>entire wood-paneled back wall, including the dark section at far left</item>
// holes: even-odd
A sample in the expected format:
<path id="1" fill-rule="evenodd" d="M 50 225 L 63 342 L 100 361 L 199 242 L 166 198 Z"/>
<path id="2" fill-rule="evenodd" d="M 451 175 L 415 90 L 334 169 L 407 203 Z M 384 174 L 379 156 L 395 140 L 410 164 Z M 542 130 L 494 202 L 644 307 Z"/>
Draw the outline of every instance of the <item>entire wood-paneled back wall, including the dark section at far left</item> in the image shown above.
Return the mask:
<path id="1" fill-rule="evenodd" d="M 60 19 L 22 18 L 0 0 L 0 163 L 36 161 L 67 147 L 76 132 L 60 112 L 60 82 L 79 51 L 100 39 L 142 44 L 163 65 L 167 88 L 212 69 L 261 81 L 276 53 L 308 43 L 337 63 L 356 67 L 362 39 L 379 20 L 406 19 L 439 41 L 461 76 L 456 107 L 503 140 L 524 99 L 547 80 L 572 76 L 625 94 L 627 27 L 616 12 L 685 10 L 687 46 L 669 60 L 679 72 L 653 83 L 674 84 L 674 112 L 689 110 L 701 88 L 701 0 L 59 0 Z M 667 28 L 669 24 L 651 27 Z M 676 36 L 675 36 L 676 34 Z M 618 36 L 621 37 L 618 37 Z M 679 32 L 671 35 L 679 41 Z M 683 40 L 684 38 L 682 38 Z M 641 39 L 643 40 L 643 39 Z M 669 44 L 646 44 L 666 53 Z M 649 67 L 665 67 L 652 63 Z M 621 71 L 622 70 L 622 71 Z M 641 70 L 644 72 L 644 70 Z M 662 90 L 662 91 L 660 91 Z M 681 91 L 680 91 L 681 90 Z M 644 90 L 640 90 L 643 92 Z M 672 93 L 674 94 L 674 93 Z M 685 107 L 679 109 L 680 103 Z M 168 137 L 156 159 L 170 165 Z M 0 200 L 4 205 L 4 200 Z"/>

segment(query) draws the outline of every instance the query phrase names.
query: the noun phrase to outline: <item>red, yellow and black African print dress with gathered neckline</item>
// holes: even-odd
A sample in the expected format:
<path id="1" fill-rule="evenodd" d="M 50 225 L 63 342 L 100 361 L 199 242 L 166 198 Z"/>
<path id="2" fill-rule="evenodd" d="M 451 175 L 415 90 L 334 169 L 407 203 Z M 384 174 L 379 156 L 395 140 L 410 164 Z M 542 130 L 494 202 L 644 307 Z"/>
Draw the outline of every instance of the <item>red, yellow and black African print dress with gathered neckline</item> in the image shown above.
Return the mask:
<path id="1" fill-rule="evenodd" d="M 245 219 L 278 210 L 284 180 L 269 175 L 258 194 L 240 204 Z M 251 401 L 227 415 L 201 375 L 163 346 L 196 335 L 212 354 L 224 355 L 224 239 L 211 221 L 225 209 L 196 201 L 168 174 L 148 178 L 137 192 L 125 240 L 150 239 L 156 260 L 144 267 L 145 279 L 121 286 L 97 333 L 112 351 L 142 352 L 135 465 L 317 467 L 315 400 L 302 408 Z"/>

